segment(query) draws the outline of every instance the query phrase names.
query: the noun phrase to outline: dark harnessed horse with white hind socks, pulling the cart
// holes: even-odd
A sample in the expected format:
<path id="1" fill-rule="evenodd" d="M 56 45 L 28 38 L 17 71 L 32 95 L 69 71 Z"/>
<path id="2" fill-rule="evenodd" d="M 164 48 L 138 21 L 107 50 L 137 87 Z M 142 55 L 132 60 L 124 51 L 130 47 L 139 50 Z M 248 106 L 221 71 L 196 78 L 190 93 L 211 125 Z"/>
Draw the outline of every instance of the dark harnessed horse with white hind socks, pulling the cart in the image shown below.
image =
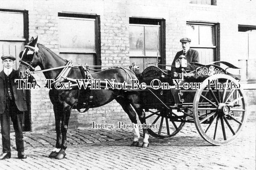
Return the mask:
<path id="1" fill-rule="evenodd" d="M 57 54 L 53 53 L 49 48 L 37 43 L 37 38 L 31 38 L 31 40 L 25 45 L 24 51 L 20 53 L 19 64 L 19 76 L 22 79 L 27 78 L 30 75 L 30 71 L 34 71 L 35 67 L 39 66 L 46 79 L 56 79 L 58 75 L 66 68 L 67 60 L 62 59 Z M 29 72 L 29 73 L 28 73 Z M 73 79 L 83 79 L 83 72 L 81 69 L 71 67 L 67 77 Z M 134 72 L 129 69 L 121 67 L 114 67 L 107 70 L 91 73 L 91 77 L 94 79 L 114 79 L 116 83 L 131 84 L 132 79 L 137 79 Z M 63 80 L 62 82 L 67 81 Z M 81 96 L 81 89 L 57 89 L 52 87 L 49 90 L 49 98 L 53 104 L 53 110 L 55 115 L 55 130 L 56 130 L 56 145 L 55 148 L 49 154 L 50 158 L 63 159 L 66 156 L 65 150 L 67 149 L 67 129 L 69 123 L 69 117 L 71 109 L 80 108 L 80 98 L 85 100 L 85 103 L 93 103 L 92 107 L 99 107 L 108 104 L 112 100 L 116 100 L 128 114 L 130 120 L 134 125 L 137 125 L 136 113 L 139 117 L 141 124 L 146 124 L 145 112 L 142 109 L 141 97 L 138 91 L 129 91 L 124 89 L 91 89 L 90 99 L 85 98 L 86 95 Z M 92 100 L 92 101 L 88 101 Z M 133 109 L 133 108 L 134 109 Z M 134 111 L 135 110 L 135 111 Z M 131 146 L 139 147 L 139 129 L 138 125 L 134 127 L 134 140 Z M 143 126 L 144 127 L 144 126 Z M 148 131 L 147 128 L 143 128 L 143 144 L 140 147 L 148 147 Z"/>

